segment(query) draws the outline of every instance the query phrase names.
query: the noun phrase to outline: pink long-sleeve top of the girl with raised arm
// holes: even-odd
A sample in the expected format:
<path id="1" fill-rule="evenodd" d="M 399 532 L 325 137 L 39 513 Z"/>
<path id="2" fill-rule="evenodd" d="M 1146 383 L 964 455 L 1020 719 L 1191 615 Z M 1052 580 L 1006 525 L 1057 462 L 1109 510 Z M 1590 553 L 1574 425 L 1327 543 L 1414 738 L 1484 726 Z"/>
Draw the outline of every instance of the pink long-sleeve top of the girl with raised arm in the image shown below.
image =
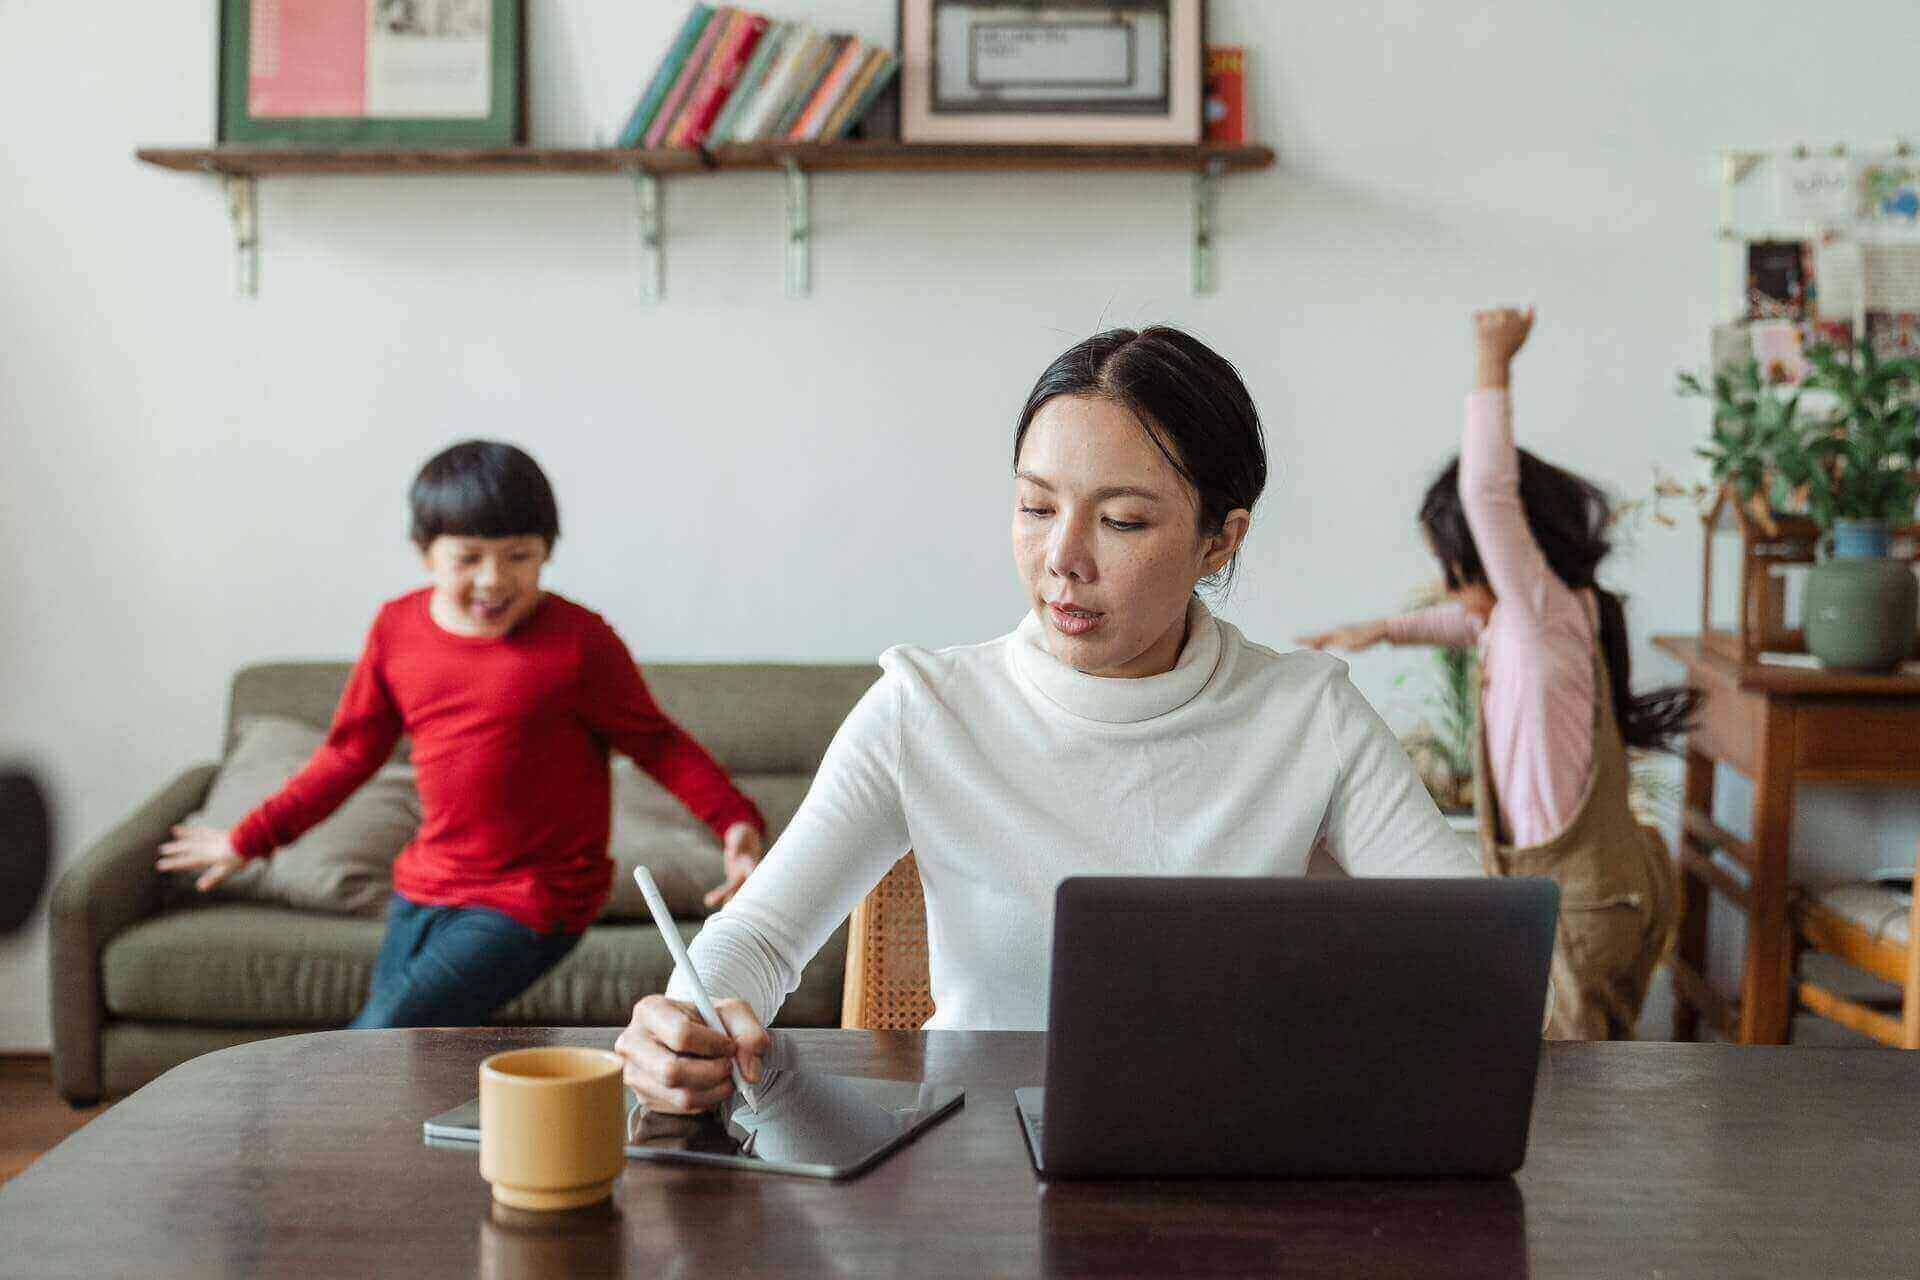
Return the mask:
<path id="1" fill-rule="evenodd" d="M 1548 566 L 1521 507 L 1513 403 L 1503 390 L 1467 397 L 1459 501 L 1494 589 L 1480 626 L 1459 604 L 1390 618 L 1394 645 L 1478 645 L 1480 733 L 1500 798 L 1500 825 L 1519 846 L 1567 829 L 1594 766 L 1592 591 Z"/>

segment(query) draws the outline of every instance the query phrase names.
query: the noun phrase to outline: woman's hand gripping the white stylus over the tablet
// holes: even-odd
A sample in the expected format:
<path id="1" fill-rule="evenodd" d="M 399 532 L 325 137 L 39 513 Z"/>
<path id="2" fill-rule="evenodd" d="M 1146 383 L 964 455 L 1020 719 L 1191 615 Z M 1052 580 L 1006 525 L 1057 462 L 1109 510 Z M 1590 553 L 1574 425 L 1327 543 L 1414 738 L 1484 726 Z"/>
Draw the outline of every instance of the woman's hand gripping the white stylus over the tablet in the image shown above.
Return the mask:
<path id="1" fill-rule="evenodd" d="M 612 1052 L 626 1061 L 626 1086 L 649 1111 L 691 1115 L 720 1105 L 733 1092 L 735 1061 L 749 1084 L 760 1082 L 774 1038 L 745 1000 L 716 1000 L 714 1011 L 728 1034 L 703 1023 L 685 1000 L 647 996 L 634 1006 Z"/>

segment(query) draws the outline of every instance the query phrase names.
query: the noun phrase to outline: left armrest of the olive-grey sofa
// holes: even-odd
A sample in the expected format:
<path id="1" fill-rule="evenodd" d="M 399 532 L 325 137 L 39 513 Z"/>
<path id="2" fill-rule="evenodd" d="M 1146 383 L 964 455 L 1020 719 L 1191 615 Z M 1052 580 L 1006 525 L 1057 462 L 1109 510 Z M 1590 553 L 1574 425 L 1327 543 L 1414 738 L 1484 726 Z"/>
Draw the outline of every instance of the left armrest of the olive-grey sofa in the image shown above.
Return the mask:
<path id="1" fill-rule="evenodd" d="M 54 885 L 48 908 L 54 1086 L 73 1105 L 100 1100 L 100 1031 L 106 1025 L 100 952 L 121 929 L 159 912 L 161 883 L 154 867 L 159 844 L 177 821 L 205 802 L 217 771 L 219 766 L 202 764 L 180 773 Z"/>

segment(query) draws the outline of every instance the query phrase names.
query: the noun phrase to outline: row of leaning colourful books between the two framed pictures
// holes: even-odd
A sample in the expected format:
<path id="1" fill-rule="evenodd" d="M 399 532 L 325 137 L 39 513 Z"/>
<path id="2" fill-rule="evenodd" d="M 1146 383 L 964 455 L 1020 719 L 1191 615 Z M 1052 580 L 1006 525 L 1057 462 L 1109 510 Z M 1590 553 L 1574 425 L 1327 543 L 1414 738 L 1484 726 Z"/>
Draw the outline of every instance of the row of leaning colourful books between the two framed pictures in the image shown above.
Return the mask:
<path id="1" fill-rule="evenodd" d="M 695 4 L 616 146 L 835 142 L 899 69 L 891 50 L 852 35 Z"/>

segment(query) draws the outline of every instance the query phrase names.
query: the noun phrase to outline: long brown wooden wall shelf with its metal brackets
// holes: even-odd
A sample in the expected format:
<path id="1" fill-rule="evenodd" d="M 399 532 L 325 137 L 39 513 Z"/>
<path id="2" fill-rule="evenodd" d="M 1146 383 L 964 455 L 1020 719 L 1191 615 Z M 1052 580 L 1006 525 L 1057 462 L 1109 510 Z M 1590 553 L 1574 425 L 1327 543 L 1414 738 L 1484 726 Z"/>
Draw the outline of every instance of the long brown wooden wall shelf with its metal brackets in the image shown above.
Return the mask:
<path id="1" fill-rule="evenodd" d="M 236 286 L 244 297 L 259 292 L 257 178 L 324 175 L 626 175 L 639 196 L 643 253 L 641 294 L 664 297 L 662 178 L 718 173 L 785 173 L 787 177 L 787 292 L 812 292 L 812 215 L 808 177 L 814 173 L 1035 173 L 1140 171 L 1190 173 L 1192 290 L 1213 292 L 1213 180 L 1227 173 L 1269 169 L 1267 146 L 914 146 L 904 142 L 753 144 L 705 150 L 355 150 L 355 148 L 140 148 L 134 159 L 177 173 L 213 175 L 227 184 L 234 226 Z"/>

